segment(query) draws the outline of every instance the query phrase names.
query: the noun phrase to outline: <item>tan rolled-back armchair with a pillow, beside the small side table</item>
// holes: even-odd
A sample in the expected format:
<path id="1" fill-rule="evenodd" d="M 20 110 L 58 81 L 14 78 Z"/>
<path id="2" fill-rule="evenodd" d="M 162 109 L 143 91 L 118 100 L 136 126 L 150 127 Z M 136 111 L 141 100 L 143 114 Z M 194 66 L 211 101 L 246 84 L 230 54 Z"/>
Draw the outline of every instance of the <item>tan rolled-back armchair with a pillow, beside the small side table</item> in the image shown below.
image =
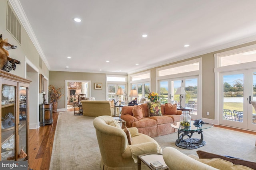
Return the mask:
<path id="1" fill-rule="evenodd" d="M 162 153 L 160 145 L 151 137 L 138 133 L 136 127 L 128 128 L 131 145 L 124 129 L 116 125 L 111 116 L 99 116 L 93 121 L 101 154 L 102 170 L 135 170 L 137 156 L 149 152 Z M 117 122 L 117 121 L 116 121 Z M 146 168 L 142 164 L 142 169 Z"/>

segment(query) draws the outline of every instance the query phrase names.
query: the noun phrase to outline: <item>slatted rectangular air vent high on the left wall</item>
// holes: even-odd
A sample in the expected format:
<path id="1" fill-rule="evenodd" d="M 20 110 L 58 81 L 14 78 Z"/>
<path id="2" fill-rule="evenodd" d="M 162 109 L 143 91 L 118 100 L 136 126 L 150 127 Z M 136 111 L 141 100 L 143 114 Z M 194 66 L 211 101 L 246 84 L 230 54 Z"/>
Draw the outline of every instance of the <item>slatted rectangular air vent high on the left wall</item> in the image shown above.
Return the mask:
<path id="1" fill-rule="evenodd" d="M 21 44 L 21 25 L 10 4 L 7 4 L 6 29 Z"/>

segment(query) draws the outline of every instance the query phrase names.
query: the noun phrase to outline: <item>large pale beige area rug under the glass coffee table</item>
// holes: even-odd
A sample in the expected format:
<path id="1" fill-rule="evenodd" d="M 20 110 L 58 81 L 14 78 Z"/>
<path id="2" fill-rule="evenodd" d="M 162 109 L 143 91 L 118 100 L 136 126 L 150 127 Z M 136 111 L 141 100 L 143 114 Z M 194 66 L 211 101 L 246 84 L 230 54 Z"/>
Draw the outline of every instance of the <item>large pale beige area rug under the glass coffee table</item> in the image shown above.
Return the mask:
<path id="1" fill-rule="evenodd" d="M 74 112 L 59 113 L 50 170 L 100 170 L 100 150 L 93 126 L 94 117 L 74 115 Z M 206 145 L 198 149 L 176 147 L 177 133 L 154 137 L 162 149 L 174 147 L 184 154 L 196 154 L 204 150 L 221 155 L 243 158 L 256 162 L 256 135 L 212 127 L 203 131 Z M 200 138 L 194 133 L 193 137 Z"/>

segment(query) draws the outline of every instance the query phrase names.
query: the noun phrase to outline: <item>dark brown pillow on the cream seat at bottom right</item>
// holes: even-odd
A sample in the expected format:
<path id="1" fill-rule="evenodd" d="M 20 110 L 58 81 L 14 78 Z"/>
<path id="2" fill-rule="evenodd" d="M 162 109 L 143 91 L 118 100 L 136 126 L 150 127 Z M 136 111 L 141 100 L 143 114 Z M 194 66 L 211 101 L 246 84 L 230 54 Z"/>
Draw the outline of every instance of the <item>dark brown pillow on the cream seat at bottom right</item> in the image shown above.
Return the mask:
<path id="1" fill-rule="evenodd" d="M 228 158 L 226 156 L 221 156 L 218 154 L 213 154 L 213 153 L 205 152 L 202 150 L 197 150 L 196 153 L 198 154 L 199 158 L 220 158 L 220 159 L 232 162 L 235 165 L 237 165 L 237 164 L 244 165 L 244 166 L 247 166 L 252 169 L 254 169 L 256 167 L 256 162 L 250 162 L 247 160 L 242 160 L 242 159 L 237 159 L 237 158 Z"/>

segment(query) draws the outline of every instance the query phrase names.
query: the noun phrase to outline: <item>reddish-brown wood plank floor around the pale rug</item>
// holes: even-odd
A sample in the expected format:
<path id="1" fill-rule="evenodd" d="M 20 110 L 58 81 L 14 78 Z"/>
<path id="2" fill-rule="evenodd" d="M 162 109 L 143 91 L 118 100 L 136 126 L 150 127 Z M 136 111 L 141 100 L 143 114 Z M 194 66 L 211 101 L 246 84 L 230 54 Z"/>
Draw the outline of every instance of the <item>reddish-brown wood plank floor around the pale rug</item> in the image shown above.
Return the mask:
<path id="1" fill-rule="evenodd" d="M 73 111 L 73 109 L 70 111 Z M 59 115 L 59 112 L 54 113 L 52 115 L 53 117 L 52 125 L 45 125 L 40 127 L 39 129 L 29 130 L 29 136 L 30 136 L 29 137 L 29 140 L 30 140 L 29 168 L 33 170 L 48 170 L 50 168 L 52 145 L 53 145 L 54 133 L 56 130 L 58 115 Z M 225 127 L 222 125 L 214 125 L 214 126 L 256 135 L 256 132 L 252 132 L 252 131 L 235 129 L 232 127 Z"/>

